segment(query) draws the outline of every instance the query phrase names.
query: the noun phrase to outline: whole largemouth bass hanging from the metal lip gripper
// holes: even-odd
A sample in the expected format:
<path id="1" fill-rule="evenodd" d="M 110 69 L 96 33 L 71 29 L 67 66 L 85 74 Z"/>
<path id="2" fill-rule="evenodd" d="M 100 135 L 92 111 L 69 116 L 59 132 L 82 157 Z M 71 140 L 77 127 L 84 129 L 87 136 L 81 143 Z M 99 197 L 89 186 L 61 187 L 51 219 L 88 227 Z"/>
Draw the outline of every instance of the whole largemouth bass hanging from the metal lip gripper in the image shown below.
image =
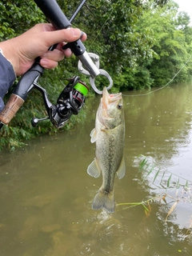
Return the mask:
<path id="1" fill-rule="evenodd" d="M 96 148 L 94 161 L 88 166 L 87 173 L 94 178 L 102 174 L 102 186 L 94 197 L 92 209 L 114 213 L 114 178 L 116 174 L 119 179 L 126 174 L 122 93 L 109 94 L 106 87 L 103 88 L 95 128 L 90 137 L 90 142 L 95 142 Z"/>

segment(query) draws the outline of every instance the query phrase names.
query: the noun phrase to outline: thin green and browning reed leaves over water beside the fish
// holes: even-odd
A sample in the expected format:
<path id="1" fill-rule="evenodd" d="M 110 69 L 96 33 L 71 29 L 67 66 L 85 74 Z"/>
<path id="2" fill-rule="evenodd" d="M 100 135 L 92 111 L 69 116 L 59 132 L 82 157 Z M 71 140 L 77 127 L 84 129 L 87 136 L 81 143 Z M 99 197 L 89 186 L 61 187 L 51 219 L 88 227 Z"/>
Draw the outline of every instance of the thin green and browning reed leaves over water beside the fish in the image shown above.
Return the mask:
<path id="1" fill-rule="evenodd" d="M 165 217 L 166 223 L 169 222 L 170 215 L 174 213 L 179 203 L 192 203 L 192 181 L 174 174 L 169 170 L 165 170 L 161 166 L 157 166 L 151 161 L 151 158 L 146 158 L 143 155 L 137 159 L 137 165 L 138 183 L 145 185 L 147 183 L 149 187 L 153 187 L 153 189 L 156 187 L 162 193 L 156 194 L 142 202 L 122 202 L 116 206 L 122 206 L 123 210 L 134 206 L 142 206 L 146 217 L 148 217 L 151 213 L 151 204 L 158 202 L 159 204 L 168 206 Z M 121 209 L 117 207 L 117 210 Z M 192 234 L 192 215 L 189 216 L 188 223 L 189 226 L 186 235 L 190 236 Z"/>

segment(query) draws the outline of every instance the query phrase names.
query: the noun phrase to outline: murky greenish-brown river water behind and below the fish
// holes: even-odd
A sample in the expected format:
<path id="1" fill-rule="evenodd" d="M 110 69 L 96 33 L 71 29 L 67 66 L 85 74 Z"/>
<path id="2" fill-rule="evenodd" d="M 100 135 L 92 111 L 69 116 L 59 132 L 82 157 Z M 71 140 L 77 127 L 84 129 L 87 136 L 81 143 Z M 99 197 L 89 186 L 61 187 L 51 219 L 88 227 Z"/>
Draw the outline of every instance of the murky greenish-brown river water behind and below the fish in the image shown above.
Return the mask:
<path id="1" fill-rule="evenodd" d="M 115 179 L 114 214 L 91 209 L 102 178 L 86 173 L 100 96 L 74 130 L 1 153 L 1 256 L 192 254 L 192 85 L 138 96 L 147 92 L 124 93 L 126 176 Z"/>

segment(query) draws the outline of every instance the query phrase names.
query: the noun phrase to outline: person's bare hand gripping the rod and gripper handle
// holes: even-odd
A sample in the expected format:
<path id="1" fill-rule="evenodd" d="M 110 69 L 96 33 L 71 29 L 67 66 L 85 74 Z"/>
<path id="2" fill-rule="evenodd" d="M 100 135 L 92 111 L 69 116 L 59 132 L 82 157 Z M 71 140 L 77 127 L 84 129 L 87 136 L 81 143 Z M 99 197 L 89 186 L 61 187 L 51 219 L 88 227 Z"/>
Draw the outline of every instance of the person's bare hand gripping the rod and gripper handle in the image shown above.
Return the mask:
<path id="1" fill-rule="evenodd" d="M 30 30 L 16 38 L 0 42 L 4 56 L 11 62 L 17 76 L 24 74 L 34 63 L 35 58 L 41 57 L 41 66 L 52 69 L 65 56 L 70 57 L 71 50 L 62 50 L 65 42 L 74 42 L 81 37 L 79 29 L 54 30 L 54 26 L 47 23 L 37 24 Z M 83 34 L 82 41 L 86 40 Z M 50 46 L 58 46 L 49 51 Z"/>

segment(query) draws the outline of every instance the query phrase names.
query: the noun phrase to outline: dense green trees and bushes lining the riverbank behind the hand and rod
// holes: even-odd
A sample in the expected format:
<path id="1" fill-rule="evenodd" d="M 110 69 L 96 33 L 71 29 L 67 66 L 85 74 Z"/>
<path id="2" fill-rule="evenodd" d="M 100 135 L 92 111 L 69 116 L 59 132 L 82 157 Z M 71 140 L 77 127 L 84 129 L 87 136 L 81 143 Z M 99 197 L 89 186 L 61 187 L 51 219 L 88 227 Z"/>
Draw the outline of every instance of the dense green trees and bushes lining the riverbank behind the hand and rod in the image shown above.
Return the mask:
<path id="1" fill-rule="evenodd" d="M 58 0 L 58 4 L 70 18 L 79 0 Z M 1 41 L 21 34 L 38 22 L 46 22 L 32 0 L 0 1 L 0 11 Z M 165 86 L 192 53 L 189 23 L 189 16 L 185 12 L 178 14 L 178 4 L 172 0 L 90 0 L 74 19 L 73 26 L 86 31 L 86 49 L 100 56 L 101 67 L 114 79 L 115 92 Z M 78 75 L 77 63 L 77 58 L 65 59 L 55 70 L 45 72 L 39 83 L 48 91 L 51 102 L 56 101 L 63 88 L 60 81 Z M 190 80 L 190 63 L 174 82 Z M 81 79 L 87 82 L 86 77 Z M 100 78 L 98 82 L 101 87 L 105 85 Z M 50 122 L 32 128 L 30 120 L 34 116 L 46 116 L 42 96 L 36 91 L 30 93 L 10 125 L 2 129 L 0 148 L 14 149 L 22 145 L 23 139 L 57 131 Z M 64 129 L 70 129 L 81 119 L 72 118 Z"/>

